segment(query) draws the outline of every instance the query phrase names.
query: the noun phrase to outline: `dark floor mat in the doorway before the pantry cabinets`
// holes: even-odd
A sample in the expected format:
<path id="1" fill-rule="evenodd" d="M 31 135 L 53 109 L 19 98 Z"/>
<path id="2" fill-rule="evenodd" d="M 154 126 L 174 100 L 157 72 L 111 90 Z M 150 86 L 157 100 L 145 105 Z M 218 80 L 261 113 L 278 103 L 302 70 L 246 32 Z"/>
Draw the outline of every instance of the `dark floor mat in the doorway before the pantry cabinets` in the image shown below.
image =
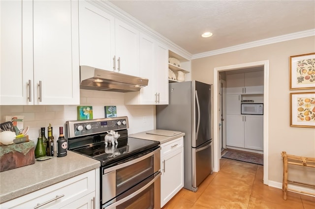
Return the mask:
<path id="1" fill-rule="evenodd" d="M 258 153 L 250 153 L 245 151 L 239 151 L 239 150 L 231 150 L 228 149 L 224 151 L 224 155 L 222 157 L 229 158 L 229 159 L 235 159 L 243 162 L 250 162 L 258 165 L 263 165 L 263 154 Z"/>

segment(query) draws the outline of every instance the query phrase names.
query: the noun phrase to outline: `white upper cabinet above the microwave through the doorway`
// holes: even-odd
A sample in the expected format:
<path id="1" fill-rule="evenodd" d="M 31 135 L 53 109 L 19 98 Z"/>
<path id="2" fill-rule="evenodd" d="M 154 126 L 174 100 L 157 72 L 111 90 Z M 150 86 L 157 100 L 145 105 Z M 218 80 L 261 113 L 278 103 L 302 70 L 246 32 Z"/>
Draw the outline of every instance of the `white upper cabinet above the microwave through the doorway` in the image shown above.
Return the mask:
<path id="1" fill-rule="evenodd" d="M 263 94 L 263 71 L 226 75 L 226 94 Z"/>

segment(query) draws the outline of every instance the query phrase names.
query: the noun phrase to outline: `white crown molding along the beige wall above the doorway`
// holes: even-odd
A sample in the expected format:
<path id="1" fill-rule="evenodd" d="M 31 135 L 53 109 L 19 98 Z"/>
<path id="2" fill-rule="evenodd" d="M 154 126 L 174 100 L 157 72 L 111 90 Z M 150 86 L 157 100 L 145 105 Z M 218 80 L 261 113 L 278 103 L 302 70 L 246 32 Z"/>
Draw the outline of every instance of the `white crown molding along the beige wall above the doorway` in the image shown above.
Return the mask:
<path id="1" fill-rule="evenodd" d="M 240 44 L 232 47 L 227 47 L 227 48 L 222 48 L 219 50 L 213 50 L 209 52 L 202 52 L 202 53 L 197 53 L 192 55 L 192 59 L 198 59 L 198 58 L 203 58 L 207 56 L 213 56 L 217 54 L 222 54 L 222 53 L 227 53 L 227 52 L 235 52 L 239 50 L 245 50 L 253 47 L 259 47 L 259 46 L 264 46 L 268 44 L 275 44 L 283 41 L 289 41 L 293 39 L 298 39 L 298 38 L 305 38 L 309 36 L 315 36 L 315 29 L 310 29 L 310 30 L 303 30 L 300 32 L 295 32 L 295 33 L 289 33 L 281 36 L 275 36 L 271 38 L 266 38 L 258 41 L 253 41 L 245 44 Z"/>

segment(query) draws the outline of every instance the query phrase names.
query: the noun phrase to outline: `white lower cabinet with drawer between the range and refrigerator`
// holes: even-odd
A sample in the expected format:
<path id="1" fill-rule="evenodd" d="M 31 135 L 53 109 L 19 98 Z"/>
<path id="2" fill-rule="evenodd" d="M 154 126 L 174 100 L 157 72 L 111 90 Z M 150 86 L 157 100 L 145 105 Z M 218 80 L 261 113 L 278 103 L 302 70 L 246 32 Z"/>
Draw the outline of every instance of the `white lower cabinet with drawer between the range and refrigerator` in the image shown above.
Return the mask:
<path id="1" fill-rule="evenodd" d="M 184 137 L 161 144 L 161 207 L 184 186 Z"/>

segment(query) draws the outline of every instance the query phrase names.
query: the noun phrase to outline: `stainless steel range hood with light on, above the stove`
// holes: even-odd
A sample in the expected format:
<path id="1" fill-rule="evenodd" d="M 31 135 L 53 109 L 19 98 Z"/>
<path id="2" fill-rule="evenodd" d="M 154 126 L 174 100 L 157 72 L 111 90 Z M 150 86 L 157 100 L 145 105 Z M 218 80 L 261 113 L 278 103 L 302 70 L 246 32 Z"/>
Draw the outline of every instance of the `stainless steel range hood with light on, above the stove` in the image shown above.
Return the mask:
<path id="1" fill-rule="evenodd" d="M 112 71 L 80 66 L 80 89 L 113 92 L 139 91 L 147 86 L 147 78 L 138 78 Z"/>

